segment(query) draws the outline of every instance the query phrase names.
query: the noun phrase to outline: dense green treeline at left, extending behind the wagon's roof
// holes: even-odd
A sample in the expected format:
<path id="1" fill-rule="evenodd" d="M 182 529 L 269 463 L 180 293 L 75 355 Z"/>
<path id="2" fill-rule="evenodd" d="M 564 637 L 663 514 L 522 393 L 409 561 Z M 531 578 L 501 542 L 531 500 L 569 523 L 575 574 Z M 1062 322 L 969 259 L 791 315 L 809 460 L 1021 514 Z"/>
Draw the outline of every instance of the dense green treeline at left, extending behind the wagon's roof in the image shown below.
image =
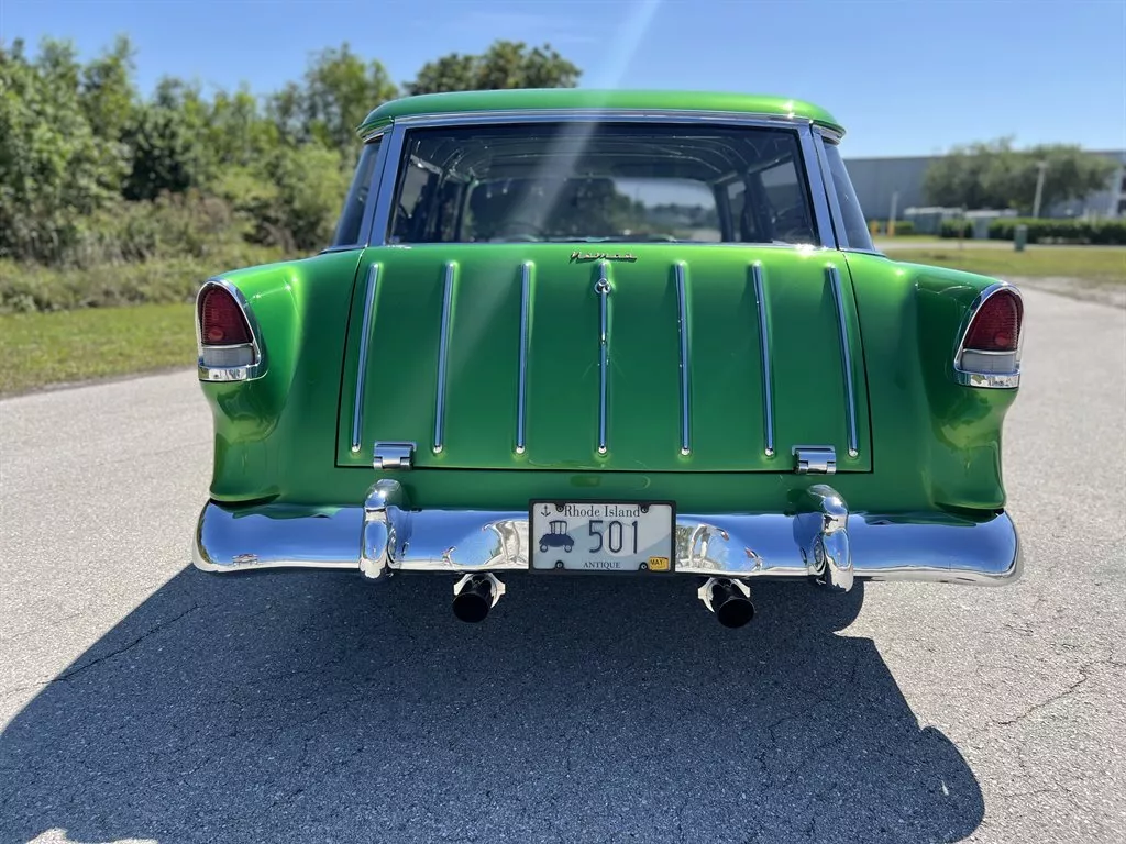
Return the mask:
<path id="1" fill-rule="evenodd" d="M 316 250 L 351 178 L 356 128 L 381 102 L 580 75 L 551 46 L 497 42 L 429 62 L 400 89 L 345 43 L 266 96 L 166 77 L 142 97 L 134 56 L 124 36 L 86 63 L 69 42 L 46 39 L 34 56 L 0 42 L 0 259 L 225 264 L 262 248 Z"/>

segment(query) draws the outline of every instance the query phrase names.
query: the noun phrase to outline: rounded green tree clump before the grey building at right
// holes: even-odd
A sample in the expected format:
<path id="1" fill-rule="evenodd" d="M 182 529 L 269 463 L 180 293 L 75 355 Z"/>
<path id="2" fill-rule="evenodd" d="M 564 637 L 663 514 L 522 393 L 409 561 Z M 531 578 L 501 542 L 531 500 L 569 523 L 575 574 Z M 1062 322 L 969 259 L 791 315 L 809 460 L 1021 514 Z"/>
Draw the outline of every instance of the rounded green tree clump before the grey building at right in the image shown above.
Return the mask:
<path id="1" fill-rule="evenodd" d="M 1017 208 L 1030 213 L 1039 162 L 1046 162 L 1040 207 L 1078 199 L 1107 185 L 1114 162 L 1078 145 L 1049 144 L 1015 150 L 1012 138 L 958 146 L 935 161 L 923 179 L 935 205 L 965 208 Z"/>

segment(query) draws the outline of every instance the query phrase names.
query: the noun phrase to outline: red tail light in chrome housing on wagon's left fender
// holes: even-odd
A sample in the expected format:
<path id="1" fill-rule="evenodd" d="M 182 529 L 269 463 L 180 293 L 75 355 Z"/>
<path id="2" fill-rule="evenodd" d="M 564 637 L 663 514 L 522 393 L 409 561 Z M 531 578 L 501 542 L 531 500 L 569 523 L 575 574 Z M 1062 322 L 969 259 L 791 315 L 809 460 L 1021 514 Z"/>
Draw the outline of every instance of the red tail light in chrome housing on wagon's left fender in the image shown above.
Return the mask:
<path id="1" fill-rule="evenodd" d="M 224 284 L 208 282 L 196 305 L 202 380 L 245 380 L 257 372 L 259 349 L 235 294 Z"/>

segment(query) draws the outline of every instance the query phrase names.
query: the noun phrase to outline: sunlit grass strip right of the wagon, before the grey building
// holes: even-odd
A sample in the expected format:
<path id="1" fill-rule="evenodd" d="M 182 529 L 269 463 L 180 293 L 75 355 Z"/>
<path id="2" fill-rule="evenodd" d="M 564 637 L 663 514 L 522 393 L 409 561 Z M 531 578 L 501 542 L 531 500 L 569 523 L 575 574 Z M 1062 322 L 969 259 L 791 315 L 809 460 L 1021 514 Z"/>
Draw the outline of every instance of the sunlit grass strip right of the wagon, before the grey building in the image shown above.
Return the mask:
<path id="1" fill-rule="evenodd" d="M 896 249 L 888 251 L 887 257 L 986 276 L 1055 276 L 1096 285 L 1126 285 L 1126 249 L 1029 246 L 1024 252 L 1017 252 L 1011 246 L 959 250 L 951 244 L 948 248 Z"/>

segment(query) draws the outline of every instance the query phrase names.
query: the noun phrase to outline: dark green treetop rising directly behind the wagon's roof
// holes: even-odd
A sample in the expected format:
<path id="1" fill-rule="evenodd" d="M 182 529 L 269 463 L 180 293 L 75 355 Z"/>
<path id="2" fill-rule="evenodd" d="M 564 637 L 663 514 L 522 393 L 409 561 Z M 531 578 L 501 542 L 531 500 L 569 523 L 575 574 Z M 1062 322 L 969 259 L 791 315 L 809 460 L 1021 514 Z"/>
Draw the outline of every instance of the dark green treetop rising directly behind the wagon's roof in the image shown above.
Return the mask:
<path id="1" fill-rule="evenodd" d="M 427 62 L 403 88 L 410 95 L 501 88 L 574 88 L 581 71 L 549 44 L 498 41 L 482 55 L 449 55 Z"/>

